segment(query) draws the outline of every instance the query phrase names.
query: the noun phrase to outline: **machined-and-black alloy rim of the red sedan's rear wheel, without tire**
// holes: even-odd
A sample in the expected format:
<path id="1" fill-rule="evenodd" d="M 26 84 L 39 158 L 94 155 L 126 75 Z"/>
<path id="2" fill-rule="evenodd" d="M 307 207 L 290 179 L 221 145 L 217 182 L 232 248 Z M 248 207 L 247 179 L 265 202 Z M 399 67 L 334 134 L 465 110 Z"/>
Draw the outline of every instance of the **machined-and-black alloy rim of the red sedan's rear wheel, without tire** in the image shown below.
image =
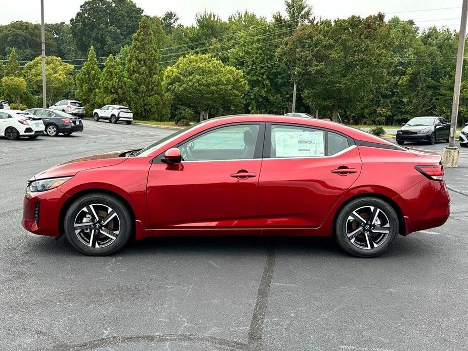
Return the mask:
<path id="1" fill-rule="evenodd" d="M 374 249 L 383 244 L 390 233 L 388 215 L 376 206 L 362 206 L 351 212 L 346 221 L 348 240 L 360 249 Z"/>

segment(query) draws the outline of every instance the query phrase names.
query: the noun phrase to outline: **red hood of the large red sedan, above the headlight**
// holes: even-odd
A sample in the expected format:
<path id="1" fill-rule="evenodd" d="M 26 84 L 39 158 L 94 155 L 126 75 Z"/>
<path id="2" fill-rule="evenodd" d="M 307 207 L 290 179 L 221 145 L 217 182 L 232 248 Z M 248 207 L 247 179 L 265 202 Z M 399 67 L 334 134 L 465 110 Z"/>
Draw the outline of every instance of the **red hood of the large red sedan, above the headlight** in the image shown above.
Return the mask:
<path id="1" fill-rule="evenodd" d="M 114 151 L 107 154 L 91 155 L 58 164 L 43 172 L 37 173 L 31 180 L 68 177 L 74 176 L 82 170 L 114 166 L 125 161 L 125 157 L 120 157 L 122 154 L 131 150 Z"/>

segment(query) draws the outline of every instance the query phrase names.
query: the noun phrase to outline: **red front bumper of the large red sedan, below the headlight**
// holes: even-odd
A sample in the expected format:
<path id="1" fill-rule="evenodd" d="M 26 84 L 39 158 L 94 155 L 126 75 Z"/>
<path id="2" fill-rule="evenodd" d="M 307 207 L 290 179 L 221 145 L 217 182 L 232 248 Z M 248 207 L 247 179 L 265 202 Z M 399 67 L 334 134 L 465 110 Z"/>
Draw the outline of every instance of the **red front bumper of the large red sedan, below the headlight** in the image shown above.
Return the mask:
<path id="1" fill-rule="evenodd" d="M 21 221 L 23 228 L 37 235 L 60 236 L 59 214 L 66 198 L 59 189 L 26 194 Z"/>

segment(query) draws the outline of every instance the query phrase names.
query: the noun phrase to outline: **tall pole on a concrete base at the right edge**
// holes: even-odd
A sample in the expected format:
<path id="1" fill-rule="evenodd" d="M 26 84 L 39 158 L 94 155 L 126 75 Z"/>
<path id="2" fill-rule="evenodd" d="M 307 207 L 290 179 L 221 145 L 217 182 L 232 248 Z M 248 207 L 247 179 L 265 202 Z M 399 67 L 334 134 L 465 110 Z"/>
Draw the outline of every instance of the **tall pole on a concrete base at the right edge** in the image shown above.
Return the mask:
<path id="1" fill-rule="evenodd" d="M 457 167 L 459 149 L 455 146 L 455 135 L 457 130 L 458 103 L 460 97 L 461 71 L 463 68 L 463 53 L 466 36 L 466 11 L 468 0 L 463 0 L 461 6 L 460 32 L 458 33 L 458 53 L 455 70 L 455 85 L 453 87 L 452 116 L 450 119 L 450 136 L 448 147 L 442 151 L 442 164 L 445 167 Z"/>

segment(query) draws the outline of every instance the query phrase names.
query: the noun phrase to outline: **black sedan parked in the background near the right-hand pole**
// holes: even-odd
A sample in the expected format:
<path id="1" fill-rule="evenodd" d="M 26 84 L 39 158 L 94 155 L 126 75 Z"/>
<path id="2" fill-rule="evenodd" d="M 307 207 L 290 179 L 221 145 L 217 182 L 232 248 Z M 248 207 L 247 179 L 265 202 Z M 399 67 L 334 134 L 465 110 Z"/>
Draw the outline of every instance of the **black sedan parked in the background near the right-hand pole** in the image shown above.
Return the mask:
<path id="1" fill-rule="evenodd" d="M 448 142 L 450 123 L 443 117 L 414 117 L 397 130 L 397 143 L 427 142 L 434 144 L 438 140 Z"/>

